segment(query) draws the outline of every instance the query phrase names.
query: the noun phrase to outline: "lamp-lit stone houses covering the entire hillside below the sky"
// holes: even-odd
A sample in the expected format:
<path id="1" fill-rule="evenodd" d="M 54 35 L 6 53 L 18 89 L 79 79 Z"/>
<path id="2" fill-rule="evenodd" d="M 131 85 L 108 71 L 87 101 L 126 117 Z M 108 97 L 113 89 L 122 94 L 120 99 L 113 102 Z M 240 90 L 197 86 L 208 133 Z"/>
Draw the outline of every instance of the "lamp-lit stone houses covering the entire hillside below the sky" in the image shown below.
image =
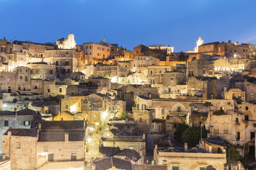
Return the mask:
<path id="1" fill-rule="evenodd" d="M 245 169 L 224 141 L 256 166 L 255 45 L 0 46 L 2 169 Z M 176 144 L 178 123 L 208 136 Z"/>

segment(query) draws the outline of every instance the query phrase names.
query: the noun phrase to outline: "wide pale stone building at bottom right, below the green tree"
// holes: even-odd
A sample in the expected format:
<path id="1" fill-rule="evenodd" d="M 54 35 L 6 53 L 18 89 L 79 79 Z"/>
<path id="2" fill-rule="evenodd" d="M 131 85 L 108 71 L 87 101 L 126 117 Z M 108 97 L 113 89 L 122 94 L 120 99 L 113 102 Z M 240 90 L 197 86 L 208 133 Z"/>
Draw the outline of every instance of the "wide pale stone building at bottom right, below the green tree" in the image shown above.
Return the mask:
<path id="1" fill-rule="evenodd" d="M 226 145 L 219 138 L 202 139 L 202 147 L 159 148 L 155 145 L 154 162 L 167 165 L 167 169 L 206 169 L 207 166 L 224 169 L 226 163 Z M 191 161 L 193 159 L 193 161 Z"/>

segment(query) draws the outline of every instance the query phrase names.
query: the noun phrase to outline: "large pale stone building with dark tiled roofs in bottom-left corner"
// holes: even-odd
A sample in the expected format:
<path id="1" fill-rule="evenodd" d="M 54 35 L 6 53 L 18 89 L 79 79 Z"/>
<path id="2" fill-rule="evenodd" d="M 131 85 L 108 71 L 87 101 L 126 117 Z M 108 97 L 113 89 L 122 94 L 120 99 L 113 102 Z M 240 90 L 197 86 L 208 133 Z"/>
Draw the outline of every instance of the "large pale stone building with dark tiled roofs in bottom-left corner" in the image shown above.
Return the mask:
<path id="1" fill-rule="evenodd" d="M 2 135 L 11 169 L 83 168 L 85 121 L 36 121 L 32 127 L 10 127 Z"/>

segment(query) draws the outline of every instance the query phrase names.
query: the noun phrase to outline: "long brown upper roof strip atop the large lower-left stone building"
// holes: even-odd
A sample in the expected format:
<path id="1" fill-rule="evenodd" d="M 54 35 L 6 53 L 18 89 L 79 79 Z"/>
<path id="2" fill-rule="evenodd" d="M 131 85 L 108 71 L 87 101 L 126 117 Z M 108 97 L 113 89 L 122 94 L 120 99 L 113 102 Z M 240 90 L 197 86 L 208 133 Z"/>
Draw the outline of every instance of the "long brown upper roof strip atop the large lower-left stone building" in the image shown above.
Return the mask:
<path id="1" fill-rule="evenodd" d="M 35 126 L 41 123 L 41 129 L 83 129 L 83 120 L 63 120 L 63 121 L 36 121 Z"/>

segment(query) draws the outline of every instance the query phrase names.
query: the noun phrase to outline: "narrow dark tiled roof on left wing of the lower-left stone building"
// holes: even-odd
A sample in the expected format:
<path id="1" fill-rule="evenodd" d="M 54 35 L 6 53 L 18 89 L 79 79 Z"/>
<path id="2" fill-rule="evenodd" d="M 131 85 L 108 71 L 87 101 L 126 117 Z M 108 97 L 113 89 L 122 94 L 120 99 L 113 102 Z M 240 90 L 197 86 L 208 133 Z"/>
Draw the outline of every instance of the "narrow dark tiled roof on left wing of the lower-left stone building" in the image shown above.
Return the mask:
<path id="1" fill-rule="evenodd" d="M 4 135 L 8 135 L 8 132 L 11 132 L 12 136 L 31 136 L 37 137 L 38 130 L 37 129 L 13 129 L 10 127 Z"/>

